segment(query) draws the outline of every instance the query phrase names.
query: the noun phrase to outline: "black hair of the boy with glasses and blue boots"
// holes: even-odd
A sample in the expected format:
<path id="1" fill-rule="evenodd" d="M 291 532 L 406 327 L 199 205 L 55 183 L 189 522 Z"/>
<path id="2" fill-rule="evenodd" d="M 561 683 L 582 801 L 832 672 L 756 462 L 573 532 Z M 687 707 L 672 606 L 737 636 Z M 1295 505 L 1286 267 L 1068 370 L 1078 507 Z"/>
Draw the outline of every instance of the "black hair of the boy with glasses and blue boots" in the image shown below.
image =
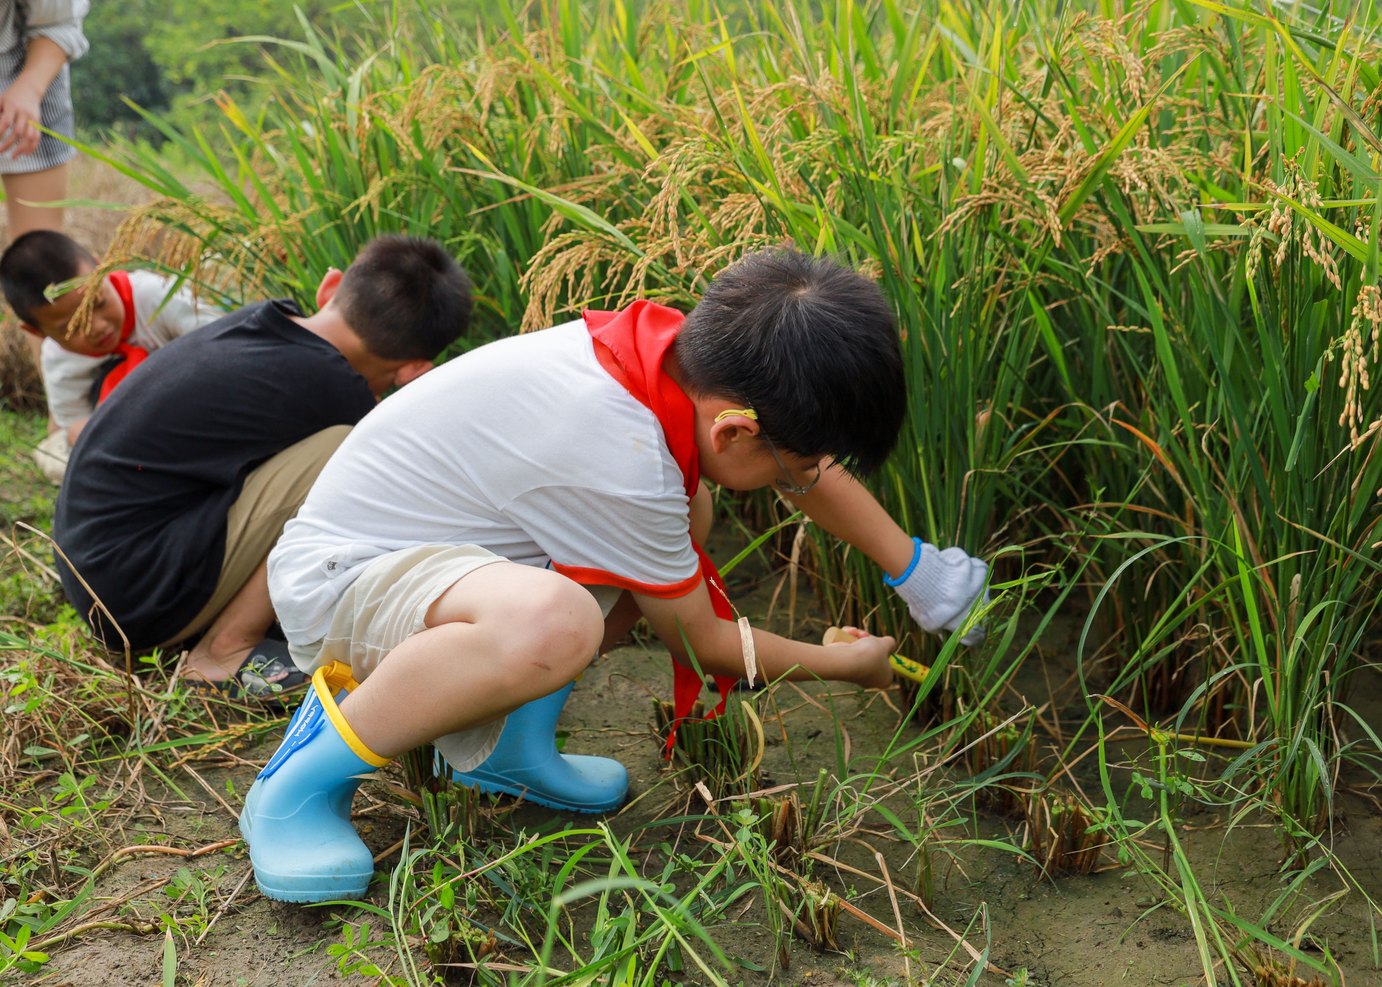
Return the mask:
<path id="1" fill-rule="evenodd" d="M 868 278 L 795 249 L 721 271 L 677 333 L 697 394 L 753 408 L 763 435 L 861 476 L 897 442 L 907 380 L 893 310 Z"/>

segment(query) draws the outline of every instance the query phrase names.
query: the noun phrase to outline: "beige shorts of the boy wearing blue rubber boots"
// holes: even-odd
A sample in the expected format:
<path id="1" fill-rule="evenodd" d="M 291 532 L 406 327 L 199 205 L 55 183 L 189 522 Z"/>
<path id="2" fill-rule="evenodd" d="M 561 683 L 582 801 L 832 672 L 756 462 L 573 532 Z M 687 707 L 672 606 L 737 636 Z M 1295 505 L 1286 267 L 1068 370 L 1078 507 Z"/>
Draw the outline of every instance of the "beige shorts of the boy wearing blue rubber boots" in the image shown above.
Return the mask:
<path id="1" fill-rule="evenodd" d="M 477 545 L 419 545 L 376 558 L 352 582 L 332 615 L 326 637 L 289 644 L 293 661 L 315 672 L 333 661 L 350 665 L 365 682 L 388 652 L 427 628 L 427 610 L 460 578 L 491 563 L 507 561 Z M 433 745 L 457 771 L 470 771 L 499 744 L 504 717 L 473 730 L 438 737 Z"/>

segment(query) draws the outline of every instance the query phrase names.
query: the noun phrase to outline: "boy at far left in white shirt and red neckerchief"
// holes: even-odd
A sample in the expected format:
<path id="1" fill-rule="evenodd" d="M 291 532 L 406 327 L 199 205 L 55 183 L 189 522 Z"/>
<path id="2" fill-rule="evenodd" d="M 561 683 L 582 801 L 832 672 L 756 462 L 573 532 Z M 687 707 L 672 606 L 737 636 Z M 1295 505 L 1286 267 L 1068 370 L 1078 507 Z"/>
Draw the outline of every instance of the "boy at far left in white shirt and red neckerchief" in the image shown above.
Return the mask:
<path id="1" fill-rule="evenodd" d="M 48 413 L 58 430 L 40 445 L 39 463 L 61 482 L 68 451 L 95 406 L 153 350 L 218 319 L 224 312 L 199 306 L 177 281 L 152 271 L 111 271 L 102 281 L 84 332 L 72 318 L 87 288 L 73 288 L 51 301 L 51 285 L 83 278 L 97 258 L 51 229 L 19 236 L 0 256 L 0 289 L 21 326 L 43 336 L 40 366 Z"/>

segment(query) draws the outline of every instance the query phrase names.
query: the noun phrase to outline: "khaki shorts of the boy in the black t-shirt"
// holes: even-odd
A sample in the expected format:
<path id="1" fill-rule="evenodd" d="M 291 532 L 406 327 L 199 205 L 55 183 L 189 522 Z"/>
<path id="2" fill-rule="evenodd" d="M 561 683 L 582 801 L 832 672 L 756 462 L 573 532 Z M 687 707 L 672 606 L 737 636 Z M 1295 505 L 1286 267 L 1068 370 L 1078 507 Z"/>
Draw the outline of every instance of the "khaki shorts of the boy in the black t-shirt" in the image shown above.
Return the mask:
<path id="1" fill-rule="evenodd" d="M 221 560 L 216 592 L 191 623 L 159 647 L 191 637 L 225 610 L 268 557 L 269 549 L 283 534 L 283 525 L 297 514 L 326 460 L 348 434 L 348 424 L 322 429 L 264 460 L 245 477 L 239 498 L 225 513 L 225 557 Z"/>

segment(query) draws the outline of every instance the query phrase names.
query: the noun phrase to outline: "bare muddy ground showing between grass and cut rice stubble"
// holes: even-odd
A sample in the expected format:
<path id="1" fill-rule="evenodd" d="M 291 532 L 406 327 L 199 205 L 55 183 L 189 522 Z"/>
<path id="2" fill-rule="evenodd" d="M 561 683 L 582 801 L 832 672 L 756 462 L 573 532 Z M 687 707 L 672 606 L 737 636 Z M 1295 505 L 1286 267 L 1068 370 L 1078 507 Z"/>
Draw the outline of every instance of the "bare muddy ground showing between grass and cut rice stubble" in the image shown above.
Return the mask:
<path id="1" fill-rule="evenodd" d="M 761 586 L 746 586 L 744 600 L 763 612 L 770 582 Z M 753 612 L 753 611 L 750 611 Z M 1067 637 L 1078 634 L 1082 617 L 1070 614 L 1057 622 L 1046 639 L 1042 658 L 1034 659 L 1032 668 L 1016 683 L 1016 693 L 1036 704 L 1050 698 L 1049 683 L 1064 682 L 1072 672 L 1068 657 Z M 755 619 L 759 623 L 759 619 Z M 781 622 L 781 621 L 779 621 Z M 815 637 L 821 632 L 821 617 L 811 614 L 796 629 L 797 636 Z M 1041 668 L 1045 662 L 1045 668 Z M 1375 680 L 1374 680 L 1375 682 Z M 1376 690 L 1363 690 L 1375 694 Z M 652 719 L 650 693 L 670 697 L 670 665 L 665 650 L 627 643 L 611 651 L 596 662 L 576 684 L 561 720 L 561 728 L 569 733 L 567 752 L 593 753 L 618 758 L 627 767 L 632 778 L 632 807 L 615 816 L 616 828 L 683 814 L 687 810 L 701 811 L 701 803 L 687 793 L 679 795 L 668 781 L 663 764 L 658 756 L 656 744 L 648 731 Z M 1056 706 L 1074 697 L 1057 695 Z M 898 702 L 896 691 L 890 694 L 861 693 L 849 686 L 835 686 L 829 697 L 818 684 L 810 684 L 800 691 L 791 686 L 782 687 L 777 695 L 782 711 L 782 727 L 768 722 L 770 741 L 764 764 L 763 785 L 788 784 L 797 776 L 792 766 L 795 755 L 803 778 L 814 778 L 818 767 L 835 770 L 836 748 L 831 716 L 815 704 L 833 699 L 835 708 L 850 738 L 850 753 L 854 770 L 868 763 L 868 758 L 880 752 L 894 735 L 898 715 L 893 706 Z M 813 702 L 814 701 L 814 702 Z M 1370 704 L 1364 701 L 1364 708 Z M 1374 708 L 1368 713 L 1376 713 Z M 1048 713 L 1046 724 L 1057 730 L 1077 726 L 1077 708 L 1066 711 L 1063 723 Z M 1376 719 L 1376 717 L 1374 717 Z M 785 730 L 785 741 L 782 733 Z M 914 735 L 915 727 L 907 727 L 904 737 Z M 777 734 L 775 737 L 774 733 Z M 187 799 L 173 792 L 164 792 L 162 806 L 151 806 L 151 814 L 140 820 L 134 829 L 112 834 L 111 839 L 120 843 L 146 843 L 153 838 L 166 836 L 178 846 L 205 846 L 221 839 L 232 839 L 235 831 L 231 810 L 238 810 L 239 795 L 247 791 L 256 764 L 263 763 L 272 752 L 272 742 L 246 746 L 234 751 L 236 760 L 203 763 L 198 773 L 218 793 L 213 800 L 206 792 L 192 784 L 191 778 L 180 776 L 177 784 Z M 1054 740 L 1042 737 L 1042 746 L 1053 749 Z M 789 751 L 791 748 L 791 751 Z M 1093 759 L 1082 762 L 1077 780 L 1093 791 L 1097 780 L 1092 771 Z M 151 788 L 151 795 L 155 789 Z M 366 784 L 357 799 L 357 813 L 363 813 L 357 821 L 366 843 L 376 852 L 387 850 L 402 836 L 405 817 L 409 810 L 384 806 L 383 793 Z M 158 798 L 158 795 L 155 795 Z M 220 805 L 224 802 L 224 805 Z M 387 802 L 387 799 L 386 799 Z M 1345 795 L 1341 799 L 1341 813 L 1336 820 L 1334 850 L 1354 876 L 1370 889 L 1382 890 L 1378 852 L 1382 847 L 1382 814 L 1375 802 L 1365 795 Z M 524 805 L 517 809 L 511 822 L 529 832 L 550 831 L 558 825 L 558 817 L 550 810 Z M 560 825 L 580 824 L 587 818 L 564 816 Z M 878 865 L 872 852 L 883 852 L 889 870 L 900 886 L 911 887 L 915 874 L 915 858 L 911 846 L 896 838 L 889 827 L 873 818 L 868 828 L 872 832 L 858 834 L 854 840 L 825 849 L 847 867 L 876 875 Z M 990 839 L 1017 838 L 1020 821 L 988 814 L 969 818 L 969 835 Z M 641 858 L 650 875 L 661 872 L 663 857 L 659 850 L 648 849 L 665 839 L 681 836 L 679 850 L 697 846 L 688 827 L 654 828 L 643 831 L 637 846 L 645 852 Z M 958 829 L 955 836 L 960 836 Z M 1231 834 L 1224 831 L 1223 814 L 1197 814 L 1186 820 L 1182 838 L 1201 883 L 1212 900 L 1227 899 L 1241 914 L 1256 918 L 1266 904 L 1277 894 L 1281 878 L 1277 872 L 1280 843 L 1273 829 L 1260 818 L 1245 820 Z M 1158 845 L 1159 846 L 1159 845 Z M 384 858 L 381 870 L 397 861 L 397 856 Z M 191 861 L 198 865 L 193 872 L 221 870 L 214 878 L 209 893 L 209 910 L 232 889 L 242 885 L 247 874 L 249 860 L 243 847 L 236 845 L 207 857 Z M 152 918 L 159 910 L 169 907 L 167 887 L 163 879 L 174 878 L 178 868 L 188 861 L 145 856 L 131 858 L 113 868 L 98 885 L 98 897 L 131 896 L 130 912 L 134 916 Z M 818 875 L 832 887 L 844 894 L 858 908 L 865 910 L 883 925 L 894 926 L 891 905 L 886 889 L 855 872 L 820 865 Z M 152 892 L 146 890 L 151 889 Z M 1339 887 L 1338 882 L 1321 872 L 1306 885 L 1310 899 L 1323 899 Z M 142 890 L 141 890 L 142 889 Z M 996 850 L 966 849 L 958 853 L 954 865 L 943 868 L 943 879 L 936 896 L 934 916 L 951 929 L 966 933 L 967 940 L 978 950 L 990 941 L 990 962 L 1006 975 L 1016 976 L 1025 969 L 1030 983 L 1052 987 L 1099 987 L 1104 984 L 1195 984 L 1202 983 L 1202 973 L 1195 951 L 1195 941 L 1189 922 L 1169 908 L 1153 911 L 1139 919 L 1154 904 L 1153 892 L 1137 876 L 1129 875 L 1110 857 L 1104 857 L 1099 870 L 1088 876 L 1042 878 L 1027 863 L 1019 861 L 1012 853 Z M 375 894 L 381 900 L 383 892 Z M 1357 896 L 1353 896 L 1356 899 Z M 341 979 L 336 958 L 328 954 L 328 947 L 340 943 L 340 932 L 330 925 L 332 912 L 343 914 L 340 908 L 307 908 L 268 901 L 254 892 L 253 881 L 242 886 L 234 907 L 218 919 L 206 940 L 199 947 L 189 948 L 180 943 L 178 983 L 231 987 L 250 984 L 294 984 L 307 987 L 312 983 Z M 491 916 L 493 918 L 493 916 Z M 771 939 L 760 925 L 761 908 L 753 905 L 739 921 L 721 925 L 713 930 L 724 951 L 735 958 L 757 966 L 771 966 Z M 323 928 L 328 922 L 328 928 Z M 955 970 L 965 965 L 963 951 L 956 951 L 952 939 L 934 923 L 920 918 L 905 900 L 902 901 L 902 922 L 914 952 L 911 970 L 915 981 L 943 973 L 947 957 L 956 957 L 949 972 L 937 976 L 934 983 L 952 983 Z M 1294 921 L 1277 922 L 1273 930 L 1289 936 Z M 1365 911 L 1353 900 L 1325 912 L 1310 929 L 1305 940 L 1309 948 L 1327 947 L 1339 961 L 1346 983 L 1382 984 L 1382 975 L 1374 966 L 1374 939 Z M 872 987 L 875 981 L 894 981 L 904 973 L 904 962 L 897 944 L 883 933 L 865 925 L 851 915 L 840 916 L 839 952 L 817 952 L 804 943 L 796 943 L 791 969 L 782 975 L 786 983 L 821 984 L 850 983 Z M 73 987 L 162 983 L 163 940 L 160 936 L 134 936 L 124 932 L 90 932 L 77 941 L 55 948 L 53 961 L 41 975 L 32 977 L 33 983 L 51 987 L 72 984 Z M 387 952 L 375 951 L 380 962 L 387 962 Z M 521 950 L 507 948 L 506 958 L 522 964 L 529 957 Z M 735 969 L 726 973 L 730 983 L 764 983 L 766 975 L 749 969 Z M 377 977 L 347 977 L 368 983 Z M 963 981 L 960 975 L 960 983 Z M 1006 977 L 994 973 L 983 975 L 980 984 L 1002 984 Z M 701 977 L 681 975 L 676 983 L 694 984 Z M 1222 980 L 1227 983 L 1227 980 Z"/>

